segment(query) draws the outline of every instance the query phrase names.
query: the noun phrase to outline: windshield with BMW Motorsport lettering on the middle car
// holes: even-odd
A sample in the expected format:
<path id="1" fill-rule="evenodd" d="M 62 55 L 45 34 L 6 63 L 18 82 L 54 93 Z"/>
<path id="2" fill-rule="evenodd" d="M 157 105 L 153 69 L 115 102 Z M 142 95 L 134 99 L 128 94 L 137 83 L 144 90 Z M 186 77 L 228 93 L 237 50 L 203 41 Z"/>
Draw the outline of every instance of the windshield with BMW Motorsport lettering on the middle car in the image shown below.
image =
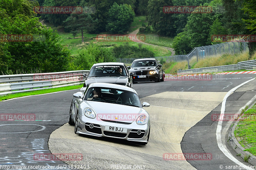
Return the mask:
<path id="1" fill-rule="evenodd" d="M 106 76 L 125 76 L 127 77 L 124 66 L 119 65 L 101 65 L 93 66 L 88 77 L 106 77 Z"/>

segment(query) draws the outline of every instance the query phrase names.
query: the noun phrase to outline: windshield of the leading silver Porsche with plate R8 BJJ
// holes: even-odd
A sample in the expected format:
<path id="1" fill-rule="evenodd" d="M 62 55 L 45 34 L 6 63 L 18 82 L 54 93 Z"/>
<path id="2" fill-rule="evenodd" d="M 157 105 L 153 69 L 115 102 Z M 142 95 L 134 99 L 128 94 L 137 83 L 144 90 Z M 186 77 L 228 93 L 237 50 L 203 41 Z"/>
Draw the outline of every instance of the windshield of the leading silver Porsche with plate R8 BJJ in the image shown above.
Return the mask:
<path id="1" fill-rule="evenodd" d="M 84 100 L 141 107 L 136 93 L 114 88 L 91 87 L 87 90 Z"/>

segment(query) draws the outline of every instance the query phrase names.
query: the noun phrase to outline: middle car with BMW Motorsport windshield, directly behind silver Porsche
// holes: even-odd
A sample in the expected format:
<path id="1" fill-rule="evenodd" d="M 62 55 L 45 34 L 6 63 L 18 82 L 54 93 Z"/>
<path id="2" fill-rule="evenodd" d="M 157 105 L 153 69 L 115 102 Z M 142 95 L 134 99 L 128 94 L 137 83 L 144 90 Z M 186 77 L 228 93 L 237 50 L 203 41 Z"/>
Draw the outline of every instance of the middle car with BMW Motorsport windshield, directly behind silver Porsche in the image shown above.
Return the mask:
<path id="1" fill-rule="evenodd" d="M 132 88 L 132 75 L 124 63 L 97 63 L 88 75 L 84 74 L 84 87 L 92 83 L 112 83 Z"/>

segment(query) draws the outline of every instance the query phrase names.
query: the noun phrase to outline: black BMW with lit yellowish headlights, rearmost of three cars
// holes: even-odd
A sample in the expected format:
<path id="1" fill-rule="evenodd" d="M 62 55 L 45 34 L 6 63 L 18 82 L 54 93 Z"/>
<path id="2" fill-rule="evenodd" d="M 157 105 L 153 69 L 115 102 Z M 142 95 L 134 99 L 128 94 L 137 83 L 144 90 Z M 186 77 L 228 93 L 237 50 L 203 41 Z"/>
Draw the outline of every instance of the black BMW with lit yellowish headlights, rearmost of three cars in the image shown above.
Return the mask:
<path id="1" fill-rule="evenodd" d="M 159 62 L 154 58 L 134 60 L 131 67 L 128 66 L 128 68 L 131 68 L 129 71 L 134 73 L 132 76 L 133 83 L 164 81 L 165 75 L 162 69 L 162 64 L 159 64 Z"/>

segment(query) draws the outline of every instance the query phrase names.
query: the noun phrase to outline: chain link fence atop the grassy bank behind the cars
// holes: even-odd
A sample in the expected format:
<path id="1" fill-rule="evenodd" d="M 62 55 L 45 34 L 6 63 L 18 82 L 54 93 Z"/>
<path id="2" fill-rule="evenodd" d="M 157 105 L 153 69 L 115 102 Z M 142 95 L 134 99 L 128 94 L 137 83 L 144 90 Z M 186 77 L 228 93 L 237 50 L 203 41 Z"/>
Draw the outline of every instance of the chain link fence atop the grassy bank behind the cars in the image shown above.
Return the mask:
<path id="1" fill-rule="evenodd" d="M 188 61 L 188 69 L 190 69 L 189 60 L 196 58 L 197 62 L 199 59 L 207 57 L 217 57 L 222 54 L 236 54 L 243 51 L 249 50 L 247 42 L 240 41 L 230 41 L 220 44 L 201 46 L 193 48 L 187 55 L 170 55 L 170 56 L 160 56 L 155 57 L 158 61 L 170 62 L 181 62 Z M 150 57 L 144 57 L 150 58 Z M 139 58 L 117 58 L 116 62 L 131 64 L 133 60 Z"/>

